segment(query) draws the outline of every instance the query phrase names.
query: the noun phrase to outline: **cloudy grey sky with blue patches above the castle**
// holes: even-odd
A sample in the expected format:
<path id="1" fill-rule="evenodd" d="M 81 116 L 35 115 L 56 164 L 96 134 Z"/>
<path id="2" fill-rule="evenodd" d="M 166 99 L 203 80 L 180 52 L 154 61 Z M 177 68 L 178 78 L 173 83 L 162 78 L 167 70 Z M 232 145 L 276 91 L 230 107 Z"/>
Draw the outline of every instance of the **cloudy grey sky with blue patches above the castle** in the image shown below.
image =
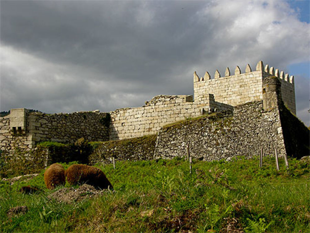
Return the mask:
<path id="1" fill-rule="evenodd" d="M 0 111 L 111 111 L 193 94 L 259 60 L 295 77 L 308 126 L 309 1 L 0 0 Z"/>

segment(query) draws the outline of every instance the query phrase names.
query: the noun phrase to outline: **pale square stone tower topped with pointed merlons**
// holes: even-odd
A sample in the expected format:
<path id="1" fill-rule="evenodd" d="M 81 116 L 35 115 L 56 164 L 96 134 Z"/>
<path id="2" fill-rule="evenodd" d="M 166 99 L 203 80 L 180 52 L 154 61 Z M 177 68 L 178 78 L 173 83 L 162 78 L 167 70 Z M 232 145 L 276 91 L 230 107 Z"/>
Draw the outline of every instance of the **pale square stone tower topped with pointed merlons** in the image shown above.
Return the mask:
<path id="1" fill-rule="evenodd" d="M 199 99 L 207 93 L 214 94 L 215 101 L 237 106 L 249 101 L 263 100 L 263 79 L 268 76 L 275 76 L 281 82 L 281 97 L 287 108 L 296 114 L 294 76 L 279 72 L 278 69 L 269 65 L 263 66 L 259 61 L 256 70 L 252 71 L 250 65 L 246 65 L 245 73 L 241 73 L 237 66 L 235 74 L 231 75 L 229 68 L 226 68 L 225 76 L 221 77 L 218 70 L 215 71 L 214 79 L 208 72 L 204 77 L 199 78 L 194 72 L 194 100 Z"/>

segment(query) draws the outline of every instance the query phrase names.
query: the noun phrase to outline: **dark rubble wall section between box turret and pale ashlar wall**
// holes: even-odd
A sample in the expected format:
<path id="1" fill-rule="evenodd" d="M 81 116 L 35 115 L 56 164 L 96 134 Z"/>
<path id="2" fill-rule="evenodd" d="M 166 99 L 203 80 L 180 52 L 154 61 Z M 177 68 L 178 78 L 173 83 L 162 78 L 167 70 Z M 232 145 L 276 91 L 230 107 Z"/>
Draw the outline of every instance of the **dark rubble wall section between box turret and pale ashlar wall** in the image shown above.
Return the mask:
<path id="1" fill-rule="evenodd" d="M 106 113 L 78 112 L 70 114 L 32 113 L 28 116 L 28 132 L 35 143 L 55 141 L 74 143 L 83 137 L 88 141 L 107 141 Z"/>

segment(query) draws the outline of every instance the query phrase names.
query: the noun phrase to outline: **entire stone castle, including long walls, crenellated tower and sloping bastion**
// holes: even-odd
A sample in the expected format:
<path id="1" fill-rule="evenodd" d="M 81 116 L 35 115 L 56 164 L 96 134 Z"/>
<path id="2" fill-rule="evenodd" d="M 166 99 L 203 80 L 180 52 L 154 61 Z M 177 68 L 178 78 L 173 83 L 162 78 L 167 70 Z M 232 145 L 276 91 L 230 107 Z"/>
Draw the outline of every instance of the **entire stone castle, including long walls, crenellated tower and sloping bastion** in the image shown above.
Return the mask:
<path id="1" fill-rule="evenodd" d="M 142 107 L 110 113 L 43 114 L 12 109 L 0 118 L 0 149 L 14 154 L 16 149 L 33 150 L 42 141 L 73 143 L 81 137 L 109 141 L 159 132 L 155 158 L 183 156 L 187 144 L 196 157 L 205 160 L 252 156 L 260 147 L 268 153 L 277 148 L 280 156 L 309 154 L 309 130 L 293 115 L 294 76 L 259 61 L 255 71 L 246 65 L 241 73 L 237 66 L 233 75 L 227 68 L 224 77 L 218 70 L 214 78 L 208 72 L 199 78 L 194 72 L 193 84 L 194 96 L 155 96 Z M 185 123 L 172 125 L 178 121 Z M 296 140 L 298 132 L 302 137 Z M 138 159 L 139 153 L 133 157 Z"/>

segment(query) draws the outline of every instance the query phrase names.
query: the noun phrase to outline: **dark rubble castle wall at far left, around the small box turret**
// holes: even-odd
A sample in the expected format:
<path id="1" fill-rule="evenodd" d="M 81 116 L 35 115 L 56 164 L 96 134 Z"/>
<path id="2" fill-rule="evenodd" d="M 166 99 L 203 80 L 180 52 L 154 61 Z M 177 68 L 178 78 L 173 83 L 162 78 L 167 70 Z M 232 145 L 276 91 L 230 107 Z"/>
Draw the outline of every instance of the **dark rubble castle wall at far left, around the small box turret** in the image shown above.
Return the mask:
<path id="1" fill-rule="evenodd" d="M 22 111 L 19 112 L 22 114 Z M 22 130 L 14 128 L 12 117 L 15 115 L 0 118 L 1 150 L 9 153 L 15 148 L 29 151 L 41 141 L 74 143 L 81 137 L 88 141 L 107 141 L 109 137 L 106 126 L 107 113 L 43 114 L 29 113 L 27 110 L 24 112 L 25 127 Z M 14 123 L 13 126 L 11 122 Z"/>

